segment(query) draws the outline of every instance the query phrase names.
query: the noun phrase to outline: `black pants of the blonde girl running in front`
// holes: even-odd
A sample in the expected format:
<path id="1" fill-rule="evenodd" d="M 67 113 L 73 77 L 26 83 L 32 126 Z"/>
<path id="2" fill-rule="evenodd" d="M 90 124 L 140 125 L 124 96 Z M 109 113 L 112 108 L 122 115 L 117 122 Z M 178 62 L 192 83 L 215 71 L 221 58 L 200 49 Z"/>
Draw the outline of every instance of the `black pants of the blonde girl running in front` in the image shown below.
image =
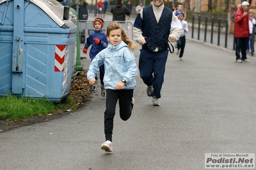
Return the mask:
<path id="1" fill-rule="evenodd" d="M 104 112 L 104 131 L 106 141 L 112 141 L 113 121 L 116 111 L 116 102 L 119 100 L 119 114 L 124 121 L 128 120 L 132 114 L 133 89 L 107 89 L 106 111 Z"/>

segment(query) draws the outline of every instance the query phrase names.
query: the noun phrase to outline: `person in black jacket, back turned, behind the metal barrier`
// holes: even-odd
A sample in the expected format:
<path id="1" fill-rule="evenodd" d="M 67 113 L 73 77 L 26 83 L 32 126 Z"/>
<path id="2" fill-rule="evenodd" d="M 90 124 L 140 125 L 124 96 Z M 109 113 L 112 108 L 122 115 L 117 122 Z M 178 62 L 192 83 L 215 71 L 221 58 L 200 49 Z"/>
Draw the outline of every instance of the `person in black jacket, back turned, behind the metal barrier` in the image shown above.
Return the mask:
<path id="1" fill-rule="evenodd" d="M 116 5 L 112 6 L 111 13 L 113 13 L 113 20 L 122 20 L 125 21 L 125 15 L 130 15 L 127 6 L 123 5 L 122 0 L 117 0 Z"/>

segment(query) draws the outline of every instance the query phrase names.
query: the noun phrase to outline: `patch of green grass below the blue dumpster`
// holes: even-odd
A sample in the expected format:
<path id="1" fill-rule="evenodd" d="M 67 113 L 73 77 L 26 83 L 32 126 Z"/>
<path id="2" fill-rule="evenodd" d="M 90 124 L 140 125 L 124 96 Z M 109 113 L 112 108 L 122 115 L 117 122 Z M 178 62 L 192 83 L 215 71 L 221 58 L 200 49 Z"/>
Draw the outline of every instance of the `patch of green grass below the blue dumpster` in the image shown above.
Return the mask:
<path id="1" fill-rule="evenodd" d="M 72 101 L 72 99 L 67 98 L 67 102 L 70 101 Z M 74 106 L 70 105 L 70 107 L 73 108 Z M 60 113 L 63 112 L 63 110 L 67 110 L 67 104 L 54 105 L 46 98 L 35 99 L 12 95 L 0 98 L 1 120 L 19 120 L 32 116 Z"/>

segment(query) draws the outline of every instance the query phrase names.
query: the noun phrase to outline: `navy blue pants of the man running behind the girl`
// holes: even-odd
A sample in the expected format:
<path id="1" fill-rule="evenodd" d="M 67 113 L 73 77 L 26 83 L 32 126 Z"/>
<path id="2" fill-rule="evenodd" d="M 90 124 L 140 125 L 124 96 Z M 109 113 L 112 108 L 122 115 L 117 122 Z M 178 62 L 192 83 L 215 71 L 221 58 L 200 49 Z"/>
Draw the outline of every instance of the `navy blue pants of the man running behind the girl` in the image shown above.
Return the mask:
<path id="1" fill-rule="evenodd" d="M 167 56 L 168 50 L 163 50 L 161 52 L 140 50 L 140 77 L 147 86 L 153 85 L 154 91 L 151 96 L 157 98 L 161 98 Z"/>

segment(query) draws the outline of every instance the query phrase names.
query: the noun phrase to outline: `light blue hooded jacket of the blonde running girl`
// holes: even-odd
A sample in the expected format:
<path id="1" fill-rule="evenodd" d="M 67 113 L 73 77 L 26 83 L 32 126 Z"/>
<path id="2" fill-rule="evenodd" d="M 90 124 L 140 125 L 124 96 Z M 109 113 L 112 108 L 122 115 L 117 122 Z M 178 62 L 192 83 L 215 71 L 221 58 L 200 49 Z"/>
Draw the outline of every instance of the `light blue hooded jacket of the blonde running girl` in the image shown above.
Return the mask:
<path id="1" fill-rule="evenodd" d="M 88 80 L 95 77 L 101 65 L 105 66 L 103 80 L 105 89 L 116 89 L 116 84 L 122 79 L 127 81 L 123 89 L 134 89 L 136 87 L 135 76 L 138 68 L 134 54 L 125 42 L 116 46 L 109 43 L 106 49 L 95 56 L 87 72 Z"/>

